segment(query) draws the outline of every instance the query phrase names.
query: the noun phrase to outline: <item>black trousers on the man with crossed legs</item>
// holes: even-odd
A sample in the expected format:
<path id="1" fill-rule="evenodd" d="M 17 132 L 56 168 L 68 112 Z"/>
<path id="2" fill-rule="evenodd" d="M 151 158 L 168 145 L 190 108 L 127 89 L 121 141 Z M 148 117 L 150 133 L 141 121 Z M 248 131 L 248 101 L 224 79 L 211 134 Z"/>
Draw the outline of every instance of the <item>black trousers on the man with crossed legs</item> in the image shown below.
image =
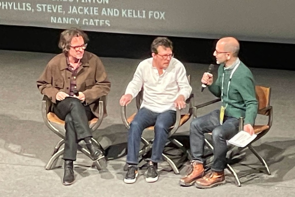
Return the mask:
<path id="1" fill-rule="evenodd" d="M 65 152 L 63 159 L 76 160 L 78 142 L 92 137 L 88 121 L 94 117 L 89 106 L 79 99 L 67 97 L 53 105 L 53 112 L 65 121 Z"/>

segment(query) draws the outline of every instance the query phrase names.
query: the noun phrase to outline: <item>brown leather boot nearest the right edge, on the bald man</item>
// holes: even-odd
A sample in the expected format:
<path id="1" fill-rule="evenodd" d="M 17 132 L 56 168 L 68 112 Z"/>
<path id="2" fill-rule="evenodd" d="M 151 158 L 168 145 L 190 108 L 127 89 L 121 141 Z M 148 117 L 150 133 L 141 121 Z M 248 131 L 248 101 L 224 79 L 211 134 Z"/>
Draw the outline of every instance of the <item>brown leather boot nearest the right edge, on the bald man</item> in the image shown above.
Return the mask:
<path id="1" fill-rule="evenodd" d="M 195 186 L 200 189 L 213 188 L 217 185 L 222 185 L 225 183 L 224 172 L 214 172 L 211 171 L 204 177 L 196 180 Z"/>

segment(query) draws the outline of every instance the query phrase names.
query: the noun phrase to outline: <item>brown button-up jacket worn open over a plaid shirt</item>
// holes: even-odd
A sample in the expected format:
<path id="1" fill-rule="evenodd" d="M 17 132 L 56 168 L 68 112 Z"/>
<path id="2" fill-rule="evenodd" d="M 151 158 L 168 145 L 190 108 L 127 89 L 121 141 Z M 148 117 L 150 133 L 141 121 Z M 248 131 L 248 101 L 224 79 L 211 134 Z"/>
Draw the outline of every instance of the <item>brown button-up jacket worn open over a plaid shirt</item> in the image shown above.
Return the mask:
<path id="1" fill-rule="evenodd" d="M 84 105 L 89 105 L 93 114 L 98 117 L 99 109 L 96 101 L 109 93 L 111 83 L 107 79 L 104 65 L 98 56 L 85 51 L 81 63 L 77 70 L 77 91 L 84 93 Z M 37 80 L 37 87 L 42 94 L 56 103 L 55 95 L 59 91 L 70 93 L 71 76 L 65 54 L 58 54 L 47 64 Z M 106 115 L 105 109 L 104 115 Z"/>

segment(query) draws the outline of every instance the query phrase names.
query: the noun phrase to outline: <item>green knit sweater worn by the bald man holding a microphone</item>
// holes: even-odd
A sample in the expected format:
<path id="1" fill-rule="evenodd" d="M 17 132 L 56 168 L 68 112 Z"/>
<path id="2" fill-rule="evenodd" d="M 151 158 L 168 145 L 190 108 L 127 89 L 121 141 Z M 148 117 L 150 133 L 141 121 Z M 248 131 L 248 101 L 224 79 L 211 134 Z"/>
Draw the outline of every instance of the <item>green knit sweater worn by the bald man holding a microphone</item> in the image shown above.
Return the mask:
<path id="1" fill-rule="evenodd" d="M 248 67 L 242 62 L 237 67 L 232 75 L 230 82 L 229 94 L 227 98 L 227 84 L 230 80 L 230 74 L 235 66 L 224 69 L 224 65 L 218 68 L 217 80 L 208 86 L 209 91 L 216 97 L 221 97 L 221 83 L 224 72 L 223 85 L 223 102 L 222 105 L 227 107 L 225 109 L 225 116 L 227 117 L 245 117 L 244 125 L 254 125 L 258 110 L 258 102 L 255 94 L 254 77 Z"/>

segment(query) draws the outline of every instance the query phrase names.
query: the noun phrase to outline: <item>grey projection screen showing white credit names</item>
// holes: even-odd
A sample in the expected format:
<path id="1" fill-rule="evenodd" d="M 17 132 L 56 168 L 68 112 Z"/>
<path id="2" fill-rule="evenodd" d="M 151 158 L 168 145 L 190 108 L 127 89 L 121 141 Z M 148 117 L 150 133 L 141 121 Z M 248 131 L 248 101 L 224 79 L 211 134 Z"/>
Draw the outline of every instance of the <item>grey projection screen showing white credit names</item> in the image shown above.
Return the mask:
<path id="1" fill-rule="evenodd" d="M 294 0 L 0 0 L 0 24 L 295 43 Z"/>

